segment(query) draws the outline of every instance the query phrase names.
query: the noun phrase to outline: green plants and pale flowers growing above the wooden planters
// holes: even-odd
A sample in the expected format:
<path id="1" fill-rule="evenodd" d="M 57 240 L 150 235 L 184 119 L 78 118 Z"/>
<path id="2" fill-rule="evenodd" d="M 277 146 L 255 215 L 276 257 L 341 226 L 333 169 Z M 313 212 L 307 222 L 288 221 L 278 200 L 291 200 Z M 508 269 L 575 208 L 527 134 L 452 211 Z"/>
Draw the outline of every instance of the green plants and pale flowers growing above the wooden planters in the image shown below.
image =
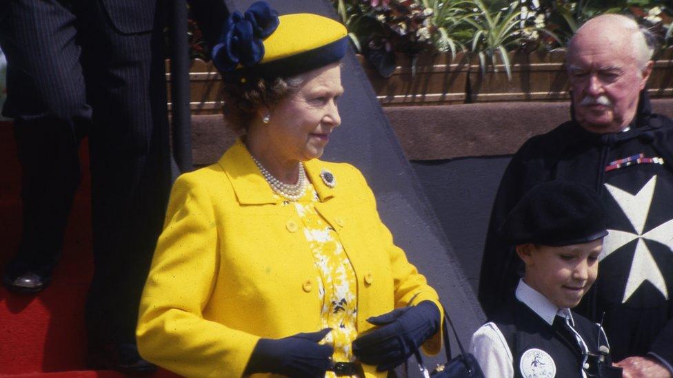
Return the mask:
<path id="1" fill-rule="evenodd" d="M 631 14 L 663 46 L 673 38 L 670 0 L 332 0 L 355 47 L 383 76 L 396 53 L 468 52 L 483 73 L 499 64 L 511 78 L 508 52 L 563 47 L 588 19 Z M 415 59 L 412 59 L 412 72 Z"/>

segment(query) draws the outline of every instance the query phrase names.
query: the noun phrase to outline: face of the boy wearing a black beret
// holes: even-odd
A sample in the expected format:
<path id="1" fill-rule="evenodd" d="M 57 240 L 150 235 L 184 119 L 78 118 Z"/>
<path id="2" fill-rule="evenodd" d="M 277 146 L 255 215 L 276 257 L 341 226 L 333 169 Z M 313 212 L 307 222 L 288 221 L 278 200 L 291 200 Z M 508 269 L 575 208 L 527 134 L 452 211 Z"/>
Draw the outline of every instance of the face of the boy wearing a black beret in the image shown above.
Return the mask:
<path id="1" fill-rule="evenodd" d="M 516 253 L 525 262 L 523 280 L 559 307 L 573 308 L 596 280 L 603 238 L 583 244 L 522 244 Z"/>

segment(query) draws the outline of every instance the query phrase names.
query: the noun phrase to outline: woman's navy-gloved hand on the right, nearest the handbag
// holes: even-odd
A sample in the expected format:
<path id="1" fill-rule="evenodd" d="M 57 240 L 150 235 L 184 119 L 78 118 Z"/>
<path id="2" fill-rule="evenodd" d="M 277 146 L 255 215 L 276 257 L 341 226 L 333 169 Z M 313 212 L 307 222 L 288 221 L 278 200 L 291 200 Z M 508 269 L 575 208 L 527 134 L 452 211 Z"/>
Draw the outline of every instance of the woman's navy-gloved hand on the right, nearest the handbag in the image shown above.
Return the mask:
<path id="1" fill-rule="evenodd" d="M 353 354 L 380 372 L 391 370 L 439 330 L 440 316 L 436 304 L 423 301 L 370 317 L 367 321 L 380 328 L 355 339 Z"/>

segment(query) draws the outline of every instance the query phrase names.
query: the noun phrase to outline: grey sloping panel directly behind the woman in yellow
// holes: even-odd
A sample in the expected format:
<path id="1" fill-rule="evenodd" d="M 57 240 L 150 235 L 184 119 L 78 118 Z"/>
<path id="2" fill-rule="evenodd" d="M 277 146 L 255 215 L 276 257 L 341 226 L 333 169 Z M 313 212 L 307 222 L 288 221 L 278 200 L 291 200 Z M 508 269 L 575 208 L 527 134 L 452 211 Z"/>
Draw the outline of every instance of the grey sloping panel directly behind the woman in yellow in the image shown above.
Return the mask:
<path id="1" fill-rule="evenodd" d="M 281 14 L 312 12 L 337 19 L 328 0 L 268 1 Z M 230 12 L 243 12 L 253 2 L 225 0 Z M 476 295 L 352 50 L 343 59 L 341 77 L 345 88 L 339 102 L 342 123 L 334 131 L 323 158 L 350 162 L 363 172 L 396 244 L 439 292 L 461 342 L 467 346 L 474 330 L 485 320 Z M 423 132 L 423 125 L 419 125 L 419 132 Z M 440 359 L 430 359 L 428 366 Z"/>

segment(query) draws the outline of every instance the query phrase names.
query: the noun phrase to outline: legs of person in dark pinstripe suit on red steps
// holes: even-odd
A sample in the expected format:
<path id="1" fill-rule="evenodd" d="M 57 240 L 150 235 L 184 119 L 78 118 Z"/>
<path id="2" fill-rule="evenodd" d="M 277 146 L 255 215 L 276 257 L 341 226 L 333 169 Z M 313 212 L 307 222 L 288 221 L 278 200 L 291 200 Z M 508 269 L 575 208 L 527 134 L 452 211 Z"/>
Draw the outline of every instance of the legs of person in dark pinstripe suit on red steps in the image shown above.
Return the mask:
<path id="1" fill-rule="evenodd" d="M 194 6 L 212 42 L 226 9 L 221 1 Z M 3 115 L 14 118 L 23 171 L 23 233 L 3 283 L 29 293 L 49 284 L 88 136 L 90 368 L 154 369 L 137 354 L 134 328 L 170 189 L 163 8 L 157 0 L 0 1 Z"/>

